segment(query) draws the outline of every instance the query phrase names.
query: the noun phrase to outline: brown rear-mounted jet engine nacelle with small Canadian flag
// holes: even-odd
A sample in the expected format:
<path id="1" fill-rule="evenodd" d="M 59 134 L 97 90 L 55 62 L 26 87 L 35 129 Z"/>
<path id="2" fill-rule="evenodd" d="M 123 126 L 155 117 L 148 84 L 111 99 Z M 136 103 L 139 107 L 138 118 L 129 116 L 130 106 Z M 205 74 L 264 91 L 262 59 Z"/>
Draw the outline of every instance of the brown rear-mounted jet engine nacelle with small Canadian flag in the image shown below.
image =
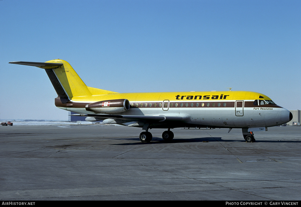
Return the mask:
<path id="1" fill-rule="evenodd" d="M 127 99 L 103 100 L 86 105 L 87 111 L 95 113 L 121 113 L 130 109 L 130 102 Z"/>

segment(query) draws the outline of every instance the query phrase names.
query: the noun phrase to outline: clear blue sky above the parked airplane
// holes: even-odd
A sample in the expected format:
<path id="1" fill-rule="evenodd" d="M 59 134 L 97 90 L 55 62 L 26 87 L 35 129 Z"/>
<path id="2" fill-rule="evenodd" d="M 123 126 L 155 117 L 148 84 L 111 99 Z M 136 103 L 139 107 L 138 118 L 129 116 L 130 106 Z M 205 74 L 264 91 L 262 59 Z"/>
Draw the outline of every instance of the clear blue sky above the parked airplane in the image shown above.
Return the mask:
<path id="1" fill-rule="evenodd" d="M 0 119 L 67 120 L 45 70 L 116 92 L 255 91 L 301 109 L 301 1 L 0 1 Z M 4 88 L 4 89 L 3 89 Z"/>

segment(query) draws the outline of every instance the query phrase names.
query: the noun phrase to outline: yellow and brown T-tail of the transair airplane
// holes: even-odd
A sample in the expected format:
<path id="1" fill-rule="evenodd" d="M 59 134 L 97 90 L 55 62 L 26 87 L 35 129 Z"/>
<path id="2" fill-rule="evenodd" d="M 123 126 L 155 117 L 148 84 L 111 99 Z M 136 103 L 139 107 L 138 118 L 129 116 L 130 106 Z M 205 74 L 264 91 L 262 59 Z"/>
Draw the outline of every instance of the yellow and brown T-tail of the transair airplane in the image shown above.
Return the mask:
<path id="1" fill-rule="evenodd" d="M 23 61 L 10 63 L 36 66 L 45 69 L 58 97 L 61 98 L 71 100 L 73 97 L 79 96 L 116 93 L 86 86 L 71 65 L 65 60 L 49 60 L 45 63 Z"/>

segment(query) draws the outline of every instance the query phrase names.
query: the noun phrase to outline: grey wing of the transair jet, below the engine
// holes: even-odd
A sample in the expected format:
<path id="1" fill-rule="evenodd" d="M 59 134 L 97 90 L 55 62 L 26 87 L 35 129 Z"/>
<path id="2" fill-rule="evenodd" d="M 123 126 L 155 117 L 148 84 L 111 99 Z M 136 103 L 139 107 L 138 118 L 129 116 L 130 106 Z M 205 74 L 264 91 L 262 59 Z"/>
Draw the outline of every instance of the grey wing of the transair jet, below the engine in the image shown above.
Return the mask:
<path id="1" fill-rule="evenodd" d="M 182 116 L 165 116 L 165 115 L 113 115 L 113 114 L 72 114 L 71 116 L 87 116 L 95 118 L 104 118 L 104 119 L 118 119 L 118 120 L 127 120 L 127 121 L 136 121 L 136 122 L 163 122 L 163 121 L 182 121 L 185 118 L 188 118 L 186 115 Z"/>

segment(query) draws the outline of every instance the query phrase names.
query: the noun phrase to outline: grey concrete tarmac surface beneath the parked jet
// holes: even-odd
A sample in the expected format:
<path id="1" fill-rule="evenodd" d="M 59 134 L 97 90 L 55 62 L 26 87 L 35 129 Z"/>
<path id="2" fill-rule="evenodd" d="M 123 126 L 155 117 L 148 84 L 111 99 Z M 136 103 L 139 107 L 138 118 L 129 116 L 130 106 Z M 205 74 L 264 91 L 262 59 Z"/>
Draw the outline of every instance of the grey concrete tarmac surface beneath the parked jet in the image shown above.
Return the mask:
<path id="1" fill-rule="evenodd" d="M 241 129 L 102 125 L 0 127 L 0 200 L 301 199 L 301 127 Z"/>

